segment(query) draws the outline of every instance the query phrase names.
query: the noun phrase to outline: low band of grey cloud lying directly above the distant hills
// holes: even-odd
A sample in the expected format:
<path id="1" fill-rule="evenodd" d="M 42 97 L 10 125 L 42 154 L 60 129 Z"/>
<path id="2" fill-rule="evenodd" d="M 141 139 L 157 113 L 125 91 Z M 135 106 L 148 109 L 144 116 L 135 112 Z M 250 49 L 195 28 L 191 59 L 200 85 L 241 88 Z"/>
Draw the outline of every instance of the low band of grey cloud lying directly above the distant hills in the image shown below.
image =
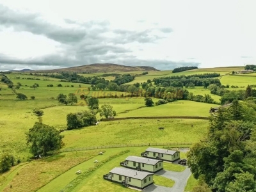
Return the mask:
<path id="1" fill-rule="evenodd" d="M 0 70 L 11 70 L 13 66 L 21 68 L 29 68 L 27 66 L 36 66 L 32 69 L 45 69 L 47 67 L 55 66 L 54 68 L 64 68 L 64 67 L 75 67 L 79 65 L 88 65 L 92 63 L 116 63 L 120 65 L 129 65 L 129 66 L 150 66 L 155 67 L 159 70 L 172 70 L 175 67 L 185 67 L 185 66 L 197 66 L 200 63 L 196 62 L 186 62 L 186 61 L 169 61 L 169 60 L 140 60 L 136 56 L 127 55 L 124 53 L 118 54 L 109 54 L 109 55 L 90 55 L 85 56 L 83 60 L 77 60 L 72 58 L 61 58 L 58 55 L 49 55 L 44 58 L 35 58 L 33 60 L 19 60 L 18 58 L 10 58 L 0 54 Z M 6 67 L 9 66 L 9 67 Z"/>

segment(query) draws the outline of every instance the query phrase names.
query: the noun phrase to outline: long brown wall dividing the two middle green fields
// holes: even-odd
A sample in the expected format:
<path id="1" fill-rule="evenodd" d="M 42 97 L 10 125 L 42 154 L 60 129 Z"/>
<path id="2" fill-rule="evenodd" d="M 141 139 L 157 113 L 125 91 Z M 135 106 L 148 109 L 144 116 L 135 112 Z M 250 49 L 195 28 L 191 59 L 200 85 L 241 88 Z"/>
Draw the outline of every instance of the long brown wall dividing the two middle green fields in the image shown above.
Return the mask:
<path id="1" fill-rule="evenodd" d="M 102 122 L 115 121 L 115 120 L 127 120 L 127 119 L 163 119 L 163 118 L 186 118 L 186 119 L 203 119 L 209 120 L 206 116 L 129 116 L 129 117 L 119 117 L 119 118 L 103 118 Z"/>

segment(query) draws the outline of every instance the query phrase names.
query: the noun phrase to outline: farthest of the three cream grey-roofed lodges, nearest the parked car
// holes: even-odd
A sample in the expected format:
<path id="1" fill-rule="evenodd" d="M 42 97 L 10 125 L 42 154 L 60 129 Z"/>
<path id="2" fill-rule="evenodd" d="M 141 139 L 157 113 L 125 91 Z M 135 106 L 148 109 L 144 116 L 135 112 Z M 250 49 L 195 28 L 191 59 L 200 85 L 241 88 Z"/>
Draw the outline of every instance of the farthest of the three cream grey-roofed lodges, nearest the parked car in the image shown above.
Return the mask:
<path id="1" fill-rule="evenodd" d="M 141 153 L 141 156 L 173 162 L 180 159 L 180 152 L 176 150 L 149 147 L 145 152 Z"/>

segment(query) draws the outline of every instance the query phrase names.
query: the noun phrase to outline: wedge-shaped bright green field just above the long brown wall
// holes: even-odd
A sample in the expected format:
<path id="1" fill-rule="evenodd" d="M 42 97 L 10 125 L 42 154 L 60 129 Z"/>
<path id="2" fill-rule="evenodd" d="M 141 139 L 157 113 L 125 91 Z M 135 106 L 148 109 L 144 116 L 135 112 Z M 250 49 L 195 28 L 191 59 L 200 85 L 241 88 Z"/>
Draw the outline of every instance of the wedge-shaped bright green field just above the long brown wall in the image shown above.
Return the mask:
<path id="1" fill-rule="evenodd" d="M 152 106 L 118 114 L 118 117 L 127 116 L 209 116 L 209 109 L 218 107 L 216 104 L 178 100 L 160 106 Z"/>

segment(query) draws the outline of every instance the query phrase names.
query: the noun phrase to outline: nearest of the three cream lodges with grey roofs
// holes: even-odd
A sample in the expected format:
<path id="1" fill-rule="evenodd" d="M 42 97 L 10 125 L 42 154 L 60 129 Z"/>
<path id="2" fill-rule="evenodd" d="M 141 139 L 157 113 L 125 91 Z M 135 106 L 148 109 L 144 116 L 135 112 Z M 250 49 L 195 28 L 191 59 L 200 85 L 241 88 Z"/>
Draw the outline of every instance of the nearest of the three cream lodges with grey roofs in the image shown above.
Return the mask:
<path id="1" fill-rule="evenodd" d="M 154 173 L 116 167 L 108 174 L 103 175 L 103 179 L 121 183 L 125 187 L 131 186 L 133 188 L 144 189 L 153 184 L 153 176 Z"/>

